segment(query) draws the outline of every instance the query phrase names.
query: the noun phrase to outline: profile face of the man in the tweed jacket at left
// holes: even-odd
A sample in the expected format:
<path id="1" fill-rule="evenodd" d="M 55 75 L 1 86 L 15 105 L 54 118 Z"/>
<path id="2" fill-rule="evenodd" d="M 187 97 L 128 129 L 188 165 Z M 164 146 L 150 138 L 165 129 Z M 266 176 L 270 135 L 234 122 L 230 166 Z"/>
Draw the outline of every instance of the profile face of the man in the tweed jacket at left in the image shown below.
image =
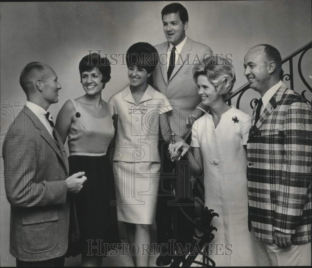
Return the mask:
<path id="1" fill-rule="evenodd" d="M 48 104 L 58 102 L 58 91 L 62 88 L 57 82 L 57 75 L 50 66 L 45 66 L 42 79 L 42 96 Z"/>

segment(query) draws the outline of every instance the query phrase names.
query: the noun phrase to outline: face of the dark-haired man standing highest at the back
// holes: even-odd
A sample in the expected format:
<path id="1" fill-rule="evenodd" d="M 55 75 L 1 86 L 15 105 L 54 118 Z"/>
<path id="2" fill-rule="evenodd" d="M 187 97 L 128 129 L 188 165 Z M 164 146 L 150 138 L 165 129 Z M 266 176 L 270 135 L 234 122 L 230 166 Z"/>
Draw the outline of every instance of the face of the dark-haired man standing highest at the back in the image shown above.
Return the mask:
<path id="1" fill-rule="evenodd" d="M 185 30 L 188 28 L 188 22 L 183 22 L 178 13 L 163 15 L 163 31 L 167 41 L 176 46 L 185 38 Z"/>

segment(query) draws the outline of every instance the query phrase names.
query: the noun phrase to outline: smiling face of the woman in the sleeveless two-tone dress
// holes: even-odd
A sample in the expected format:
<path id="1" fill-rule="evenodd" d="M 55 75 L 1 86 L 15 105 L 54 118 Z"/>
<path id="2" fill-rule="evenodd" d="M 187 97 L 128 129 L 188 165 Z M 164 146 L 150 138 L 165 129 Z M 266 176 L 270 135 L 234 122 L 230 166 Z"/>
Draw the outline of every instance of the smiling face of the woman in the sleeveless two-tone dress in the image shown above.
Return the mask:
<path id="1" fill-rule="evenodd" d="M 88 95 L 101 94 L 104 83 L 101 82 L 102 74 L 95 67 L 90 72 L 85 71 L 81 74 L 82 87 Z"/>

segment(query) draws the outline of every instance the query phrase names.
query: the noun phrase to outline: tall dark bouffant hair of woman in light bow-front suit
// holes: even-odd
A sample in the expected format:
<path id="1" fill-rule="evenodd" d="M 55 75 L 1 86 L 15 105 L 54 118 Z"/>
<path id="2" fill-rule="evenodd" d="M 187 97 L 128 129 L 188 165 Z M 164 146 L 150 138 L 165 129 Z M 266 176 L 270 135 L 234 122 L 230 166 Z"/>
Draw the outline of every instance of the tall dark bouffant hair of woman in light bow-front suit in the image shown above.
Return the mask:
<path id="1" fill-rule="evenodd" d="M 126 64 L 129 66 L 140 66 L 150 74 L 158 63 L 158 52 L 149 43 L 139 42 L 131 45 L 126 53 Z"/>

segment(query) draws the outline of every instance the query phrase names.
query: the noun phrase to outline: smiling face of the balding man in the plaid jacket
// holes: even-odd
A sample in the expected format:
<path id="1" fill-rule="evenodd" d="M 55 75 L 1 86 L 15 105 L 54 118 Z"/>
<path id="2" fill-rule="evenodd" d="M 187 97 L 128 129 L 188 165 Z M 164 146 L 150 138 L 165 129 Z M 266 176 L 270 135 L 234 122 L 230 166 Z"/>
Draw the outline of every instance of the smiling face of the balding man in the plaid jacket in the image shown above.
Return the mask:
<path id="1" fill-rule="evenodd" d="M 251 89 L 265 93 L 270 88 L 270 74 L 264 47 L 255 47 L 248 51 L 244 58 L 244 68 Z"/>

